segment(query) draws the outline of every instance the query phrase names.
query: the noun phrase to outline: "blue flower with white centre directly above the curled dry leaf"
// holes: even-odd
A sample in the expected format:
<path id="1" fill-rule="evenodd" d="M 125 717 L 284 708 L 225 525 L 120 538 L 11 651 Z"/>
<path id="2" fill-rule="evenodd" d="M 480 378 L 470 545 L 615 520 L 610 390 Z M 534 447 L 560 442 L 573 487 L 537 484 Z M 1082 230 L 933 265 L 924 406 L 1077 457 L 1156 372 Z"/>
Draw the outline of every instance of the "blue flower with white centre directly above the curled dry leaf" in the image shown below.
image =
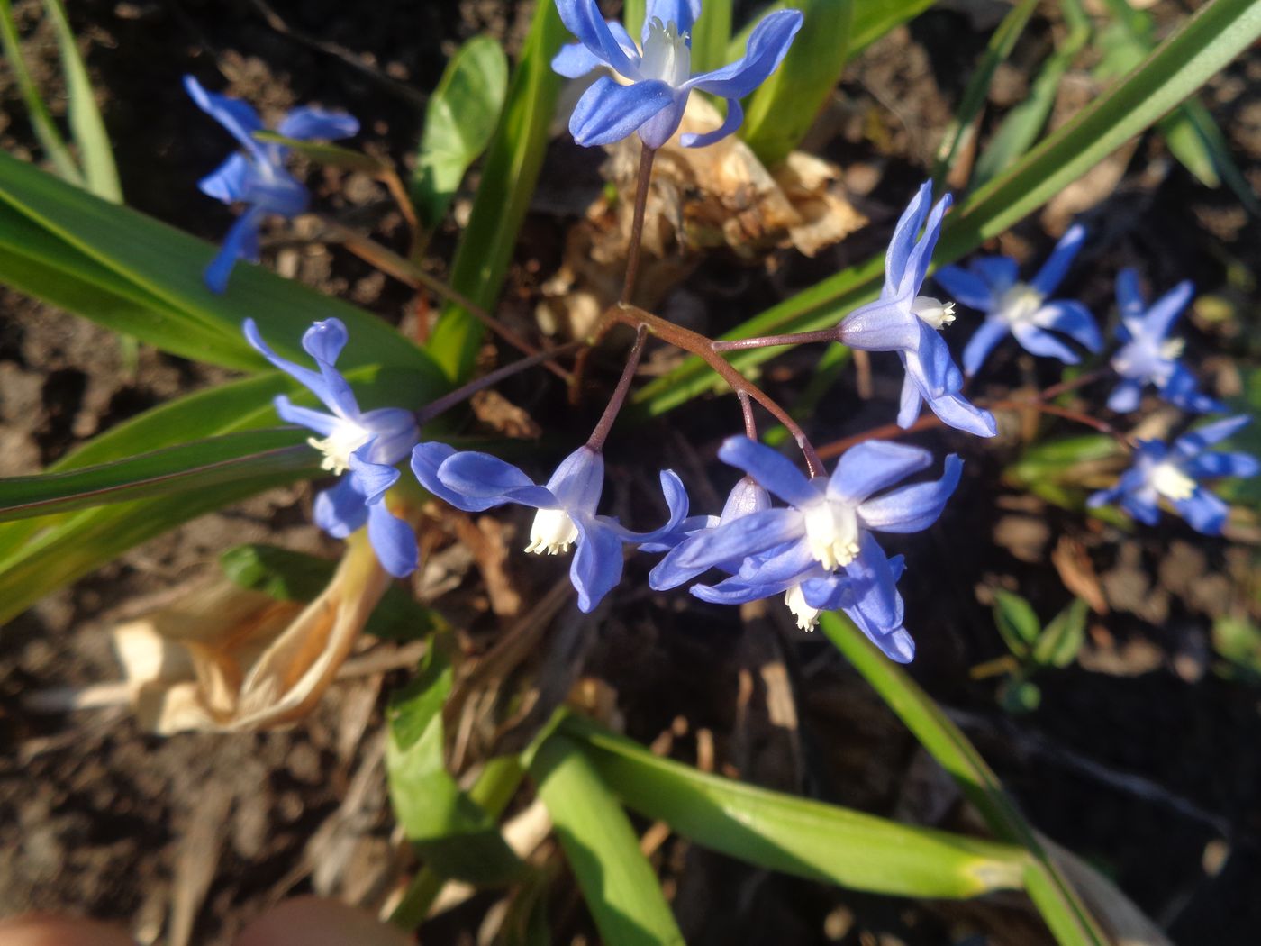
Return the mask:
<path id="1" fill-rule="evenodd" d="M 271 351 L 253 319 L 246 319 L 243 328 L 246 339 L 264 358 L 298 380 L 330 411 L 300 407 L 285 395 L 274 401 L 282 420 L 319 435 L 306 443 L 324 454 L 320 464 L 324 469 L 342 477 L 337 486 L 315 497 L 315 525 L 334 539 L 346 539 L 366 523 L 368 540 L 386 571 L 395 578 L 415 571 L 416 534 L 385 503 L 386 489 L 400 476 L 393 464 L 420 439 L 415 415 L 401 407 L 359 410 L 349 383 L 334 367 L 347 339 L 339 319 L 317 322 L 303 334 L 303 348 L 315 359 L 318 371 Z"/>

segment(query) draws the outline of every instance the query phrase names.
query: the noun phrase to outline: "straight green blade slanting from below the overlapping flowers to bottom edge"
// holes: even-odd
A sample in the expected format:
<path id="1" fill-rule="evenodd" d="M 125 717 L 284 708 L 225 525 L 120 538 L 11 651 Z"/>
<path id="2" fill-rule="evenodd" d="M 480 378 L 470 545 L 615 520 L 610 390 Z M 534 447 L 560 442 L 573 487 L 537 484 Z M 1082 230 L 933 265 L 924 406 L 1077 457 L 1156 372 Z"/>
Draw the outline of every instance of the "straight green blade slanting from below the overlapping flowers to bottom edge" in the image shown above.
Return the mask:
<path id="1" fill-rule="evenodd" d="M 1055 867 L 1002 790 L 997 776 L 967 737 L 947 719 L 907 672 L 889 661 L 863 633 L 840 614 L 823 614 L 820 627 L 846 660 L 866 679 L 938 764 L 976 806 L 990 830 L 1004 841 L 1028 851 L 1024 885 L 1038 912 L 1061 946 L 1107 946 L 1077 891 Z"/>

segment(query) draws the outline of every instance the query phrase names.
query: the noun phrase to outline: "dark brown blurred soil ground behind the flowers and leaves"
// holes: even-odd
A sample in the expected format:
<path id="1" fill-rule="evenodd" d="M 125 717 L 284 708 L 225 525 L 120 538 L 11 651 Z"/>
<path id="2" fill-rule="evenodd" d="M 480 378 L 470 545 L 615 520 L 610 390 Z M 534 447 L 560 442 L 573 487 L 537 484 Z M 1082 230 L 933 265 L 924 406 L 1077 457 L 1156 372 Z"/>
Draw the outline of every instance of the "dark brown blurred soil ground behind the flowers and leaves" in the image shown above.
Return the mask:
<path id="1" fill-rule="evenodd" d="M 69 6 L 127 202 L 212 241 L 231 212 L 198 193 L 195 182 L 230 143 L 188 101 L 183 73 L 252 101 L 265 117 L 303 102 L 344 108 L 363 124 L 361 144 L 406 161 L 424 95 L 445 57 L 480 32 L 514 53 L 530 11 L 509 0 L 270 6 L 77 0 Z M 37 79 L 54 102 L 63 101 L 55 43 L 47 25 L 37 26 L 38 0 L 15 8 Z M 718 333 L 878 251 L 924 177 L 1002 9 L 986 0 L 943 4 L 873 45 L 847 71 L 842 95 L 807 149 L 844 169 L 847 196 L 871 226 L 815 260 L 782 251 L 765 266 L 749 266 L 715 254 L 665 308 Z M 1156 13 L 1170 21 L 1184 11 L 1170 3 Z M 1035 19 L 1000 72 L 991 102 L 999 114 L 1020 101 L 1049 29 Z M 1261 174 L 1258 73 L 1261 57 L 1252 53 L 1204 96 L 1253 187 Z M 1057 121 L 1097 90 L 1087 71 L 1071 72 Z M 32 156 L 33 137 L 8 72 L 0 72 L 0 145 Z M 564 137 L 554 143 L 504 293 L 509 318 L 532 319 L 538 286 L 560 262 L 566 227 L 598 197 L 601 161 L 601 154 Z M 371 182 L 306 173 L 334 214 L 367 222 L 383 240 L 397 236 Z M 1074 214 L 1088 223 L 1092 240 L 1064 294 L 1102 315 L 1121 266 L 1139 266 L 1158 291 L 1194 279 L 1228 303 L 1231 314 L 1209 319 L 1197 310 L 1188 319 L 1190 359 L 1203 365 L 1212 390 L 1238 394 L 1240 372 L 1257 353 L 1251 341 L 1257 299 L 1252 284 L 1231 274 L 1255 272 L 1261 262 L 1257 221 L 1224 189 L 1198 185 L 1148 136 L 996 248 L 1034 261 Z M 270 265 L 387 320 L 404 319 L 409 290 L 337 247 L 306 242 L 303 226 L 271 233 Z M 439 275 L 454 235 L 450 225 L 431 248 Z M 0 313 L 4 476 L 38 470 L 112 424 L 226 377 L 146 348 L 132 358 L 103 329 L 4 289 Z M 777 361 L 767 380 L 791 401 L 811 370 L 808 353 L 797 353 Z M 1047 383 L 1053 372 L 1005 346 L 986 383 L 1001 395 L 1038 378 Z M 892 419 L 898 385 L 892 367 L 876 361 L 871 401 L 859 397 L 851 375 L 810 425 L 820 443 Z M 504 394 L 561 443 L 585 435 L 578 431 L 601 404 L 596 391 L 571 411 L 559 391 L 533 382 L 509 385 Z M 614 502 L 647 496 L 646 477 L 671 465 L 696 487 L 697 505 L 714 505 L 706 489 L 721 496 L 731 481 L 714 452 L 736 419 L 729 399 L 704 400 L 620 443 L 614 436 Z M 1117 542 L 1098 523 L 996 487 L 1013 444 L 982 450 L 939 433 L 917 441 L 937 453 L 963 450 L 967 468 L 934 528 L 889 545 L 910 564 L 903 585 L 919 643 L 912 672 L 976 740 L 1033 824 L 1112 877 L 1175 942 L 1256 942 L 1261 691 L 1214 672 L 1211 639 L 1214 618 L 1233 613 L 1241 600 L 1256 607 L 1255 550 L 1204 540 L 1170 520 Z M 223 943 L 289 893 L 317 891 L 371 904 L 397 882 L 404 864 L 391 838 L 381 703 L 405 679 L 414 660 L 407 653 L 339 684 L 309 720 L 284 733 L 159 739 L 140 732 L 125 708 L 38 713 L 26 700 L 116 680 L 111 621 L 204 573 L 226 547 L 270 541 L 334 555 L 335 544 L 308 525 L 311 496 L 305 486 L 272 491 L 198 520 L 52 595 L 0 634 L 0 914 L 88 913 L 126 923 L 145 943 Z M 501 539 L 514 547 L 511 530 L 520 534 L 528 520 L 499 518 L 507 523 Z M 561 575 L 554 561 L 517 559 L 507 580 L 528 607 Z M 599 681 L 628 734 L 758 783 L 979 830 L 950 780 L 825 639 L 792 628 L 776 602 L 736 614 L 682 594 L 648 594 L 646 570 L 634 563 L 601 622 L 584 624 L 559 657 L 572 663 L 566 672 Z M 467 643 L 484 647 L 502 624 L 478 598 L 484 592 L 469 592 L 470 583 L 475 575 L 464 581 L 469 613 L 477 616 Z M 1072 598 L 1066 585 L 1088 589 L 1106 612 L 1092 613 L 1078 662 L 1039 679 L 1042 704 L 1024 715 L 999 708 L 992 679 L 968 674 L 1004 652 L 989 608 L 987 589 L 996 585 L 1019 590 L 1044 619 Z M 545 660 L 541 672 L 546 669 Z M 657 859 L 692 943 L 1045 941 L 1014 898 L 950 904 L 851 894 L 755 872 L 677 840 Z M 478 942 L 491 902 L 477 897 L 434 921 L 424 941 Z M 557 942 L 591 936 L 576 897 L 555 904 L 551 916 Z"/>

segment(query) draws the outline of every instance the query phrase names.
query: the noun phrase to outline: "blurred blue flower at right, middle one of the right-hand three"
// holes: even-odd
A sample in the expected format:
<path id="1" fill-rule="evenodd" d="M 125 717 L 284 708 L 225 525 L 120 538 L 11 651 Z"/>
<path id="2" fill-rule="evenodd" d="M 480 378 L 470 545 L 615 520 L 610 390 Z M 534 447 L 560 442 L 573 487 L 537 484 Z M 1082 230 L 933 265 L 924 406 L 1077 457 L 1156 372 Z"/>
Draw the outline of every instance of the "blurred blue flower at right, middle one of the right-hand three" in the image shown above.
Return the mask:
<path id="1" fill-rule="evenodd" d="M 1185 343 L 1169 338 L 1169 329 L 1190 301 L 1195 288 L 1183 281 L 1148 308 L 1134 270 L 1121 270 L 1116 277 L 1116 301 L 1121 324 L 1116 337 L 1124 342 L 1112 356 L 1112 370 L 1121 376 L 1107 406 L 1127 414 L 1139 406 L 1142 388 L 1154 385 L 1169 404 L 1194 414 L 1224 411 L 1226 405 L 1202 394 L 1195 377 L 1178 361 Z"/>

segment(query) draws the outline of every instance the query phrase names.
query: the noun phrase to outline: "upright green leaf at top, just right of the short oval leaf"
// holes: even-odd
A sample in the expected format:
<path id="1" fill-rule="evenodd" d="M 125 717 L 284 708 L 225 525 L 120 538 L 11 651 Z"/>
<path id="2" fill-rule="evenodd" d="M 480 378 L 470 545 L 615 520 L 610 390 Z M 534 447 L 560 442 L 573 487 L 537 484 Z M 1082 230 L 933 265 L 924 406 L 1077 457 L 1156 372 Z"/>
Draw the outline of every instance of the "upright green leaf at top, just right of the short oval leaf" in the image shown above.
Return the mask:
<path id="1" fill-rule="evenodd" d="M 567 39 L 556 5 L 538 4 L 487 151 L 468 228 L 451 261 L 451 288 L 485 309 L 493 309 L 499 298 L 517 233 L 538 182 L 562 81 L 552 71 L 551 61 Z M 483 332 L 484 327 L 472 314 L 449 304 L 426 349 L 448 377 L 463 380 L 473 370 Z"/>

